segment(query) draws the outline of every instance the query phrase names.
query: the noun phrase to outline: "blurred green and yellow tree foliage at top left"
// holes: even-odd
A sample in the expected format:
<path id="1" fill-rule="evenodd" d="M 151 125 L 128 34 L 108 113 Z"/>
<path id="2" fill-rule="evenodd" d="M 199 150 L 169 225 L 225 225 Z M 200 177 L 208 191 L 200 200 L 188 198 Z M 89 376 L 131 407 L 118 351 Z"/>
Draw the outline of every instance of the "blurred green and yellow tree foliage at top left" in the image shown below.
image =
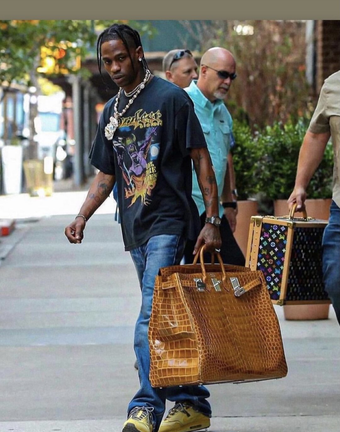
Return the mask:
<path id="1" fill-rule="evenodd" d="M 79 59 L 83 60 L 89 52 L 93 52 L 99 32 L 114 22 L 128 23 L 141 33 L 152 33 L 148 22 L 0 20 L 0 85 L 16 81 L 36 86 L 37 68 L 46 52 L 52 53 L 55 73 L 86 72 L 77 67 Z"/>

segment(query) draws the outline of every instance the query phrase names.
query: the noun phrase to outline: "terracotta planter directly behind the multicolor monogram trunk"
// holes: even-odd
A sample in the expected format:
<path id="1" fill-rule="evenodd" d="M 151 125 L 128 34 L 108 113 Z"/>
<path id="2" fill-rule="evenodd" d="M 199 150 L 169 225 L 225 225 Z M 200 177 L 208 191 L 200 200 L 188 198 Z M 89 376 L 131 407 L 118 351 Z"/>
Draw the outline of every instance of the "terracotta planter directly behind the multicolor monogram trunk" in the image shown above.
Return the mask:
<path id="1" fill-rule="evenodd" d="M 307 216 L 315 219 L 329 219 L 331 199 L 306 200 Z M 289 214 L 287 200 L 274 201 L 274 216 L 286 216 Z M 295 213 L 298 217 L 302 213 Z M 284 305 L 283 314 L 286 320 L 327 320 L 329 304 L 317 305 Z"/>

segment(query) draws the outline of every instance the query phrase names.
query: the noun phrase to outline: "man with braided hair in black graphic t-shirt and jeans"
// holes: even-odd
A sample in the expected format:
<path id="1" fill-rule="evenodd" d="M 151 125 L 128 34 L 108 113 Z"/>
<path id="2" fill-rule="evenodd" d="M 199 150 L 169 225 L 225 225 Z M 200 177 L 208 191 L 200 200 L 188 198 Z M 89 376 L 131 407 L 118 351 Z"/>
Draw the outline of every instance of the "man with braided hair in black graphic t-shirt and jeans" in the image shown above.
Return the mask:
<path id="1" fill-rule="evenodd" d="M 151 387 L 148 326 L 159 268 L 180 264 L 187 239 L 196 239 L 195 253 L 203 243 L 208 251 L 221 247 L 210 154 L 191 99 L 180 87 L 150 73 L 138 32 L 119 24 L 104 30 L 97 41 L 97 60 L 99 73 L 103 61 L 119 92 L 106 103 L 90 150 L 90 162 L 99 172 L 65 235 L 70 243 L 82 242 L 87 220 L 117 182 L 125 250 L 141 288 L 134 340 L 140 389 L 128 405 L 123 432 L 157 432 L 167 399 L 176 403 L 173 412 L 184 419 L 173 430 L 203 429 L 211 417 L 205 387 Z M 144 143 L 147 151 L 137 167 L 135 152 Z M 203 229 L 192 199 L 192 161 L 209 218 Z"/>

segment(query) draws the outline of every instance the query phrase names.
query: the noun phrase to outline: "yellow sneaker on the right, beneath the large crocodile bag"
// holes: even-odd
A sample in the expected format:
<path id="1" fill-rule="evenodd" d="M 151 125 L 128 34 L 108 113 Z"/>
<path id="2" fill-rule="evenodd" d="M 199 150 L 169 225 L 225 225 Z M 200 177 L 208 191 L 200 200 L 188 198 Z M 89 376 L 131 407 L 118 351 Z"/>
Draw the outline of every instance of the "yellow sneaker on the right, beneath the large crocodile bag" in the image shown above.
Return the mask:
<path id="1" fill-rule="evenodd" d="M 160 423 L 158 432 L 193 432 L 210 426 L 208 416 L 195 410 L 188 403 L 176 403 Z"/>

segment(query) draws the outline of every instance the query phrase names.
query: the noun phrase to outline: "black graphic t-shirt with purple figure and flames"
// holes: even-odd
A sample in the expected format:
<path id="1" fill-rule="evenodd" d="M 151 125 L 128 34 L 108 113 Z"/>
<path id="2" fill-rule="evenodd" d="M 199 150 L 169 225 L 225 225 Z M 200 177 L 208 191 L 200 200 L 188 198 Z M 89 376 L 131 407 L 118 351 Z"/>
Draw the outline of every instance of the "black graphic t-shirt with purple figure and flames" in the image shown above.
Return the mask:
<path id="1" fill-rule="evenodd" d="M 189 151 L 206 147 L 206 142 L 191 99 L 180 87 L 154 76 L 108 139 L 105 127 L 115 99 L 104 107 L 89 157 L 101 172 L 116 177 L 125 250 L 153 235 L 195 240 L 200 222 L 192 199 Z M 122 92 L 118 111 L 127 103 Z"/>

